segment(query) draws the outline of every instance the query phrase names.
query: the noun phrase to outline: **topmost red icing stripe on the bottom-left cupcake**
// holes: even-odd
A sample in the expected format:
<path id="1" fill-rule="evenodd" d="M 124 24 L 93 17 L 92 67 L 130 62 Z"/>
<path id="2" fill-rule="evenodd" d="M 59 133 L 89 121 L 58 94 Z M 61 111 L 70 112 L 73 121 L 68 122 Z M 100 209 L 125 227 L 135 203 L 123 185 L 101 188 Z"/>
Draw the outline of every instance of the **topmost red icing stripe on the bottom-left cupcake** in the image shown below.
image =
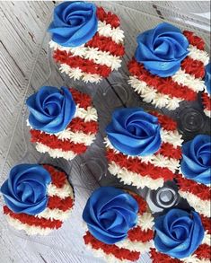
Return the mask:
<path id="1" fill-rule="evenodd" d="M 66 184 L 66 173 L 64 171 L 58 171 L 48 164 L 42 164 L 42 166 L 50 173 L 51 183 L 57 188 L 63 188 Z"/>

